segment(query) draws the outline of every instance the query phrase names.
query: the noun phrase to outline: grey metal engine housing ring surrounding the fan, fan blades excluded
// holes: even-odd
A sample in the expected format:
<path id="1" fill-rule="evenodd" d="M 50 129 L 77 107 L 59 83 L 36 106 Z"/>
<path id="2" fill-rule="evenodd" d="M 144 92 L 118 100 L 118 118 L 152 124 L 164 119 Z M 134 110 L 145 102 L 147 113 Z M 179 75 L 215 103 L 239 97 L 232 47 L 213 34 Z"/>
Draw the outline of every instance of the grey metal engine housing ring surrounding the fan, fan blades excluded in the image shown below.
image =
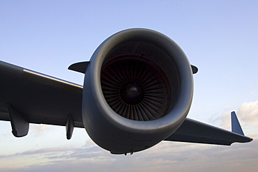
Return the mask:
<path id="1" fill-rule="evenodd" d="M 172 84 L 179 86 L 176 100 L 170 102 L 162 118 L 130 120 L 116 114 L 107 104 L 100 82 L 101 70 L 112 58 L 125 54 L 143 54 L 142 59 L 162 69 L 169 88 Z M 175 80 L 174 75 L 179 79 Z M 179 45 L 156 31 L 128 29 L 107 38 L 91 56 L 84 77 L 82 120 L 98 146 L 111 153 L 133 153 L 150 148 L 174 133 L 190 110 L 192 95 L 192 69 Z"/>

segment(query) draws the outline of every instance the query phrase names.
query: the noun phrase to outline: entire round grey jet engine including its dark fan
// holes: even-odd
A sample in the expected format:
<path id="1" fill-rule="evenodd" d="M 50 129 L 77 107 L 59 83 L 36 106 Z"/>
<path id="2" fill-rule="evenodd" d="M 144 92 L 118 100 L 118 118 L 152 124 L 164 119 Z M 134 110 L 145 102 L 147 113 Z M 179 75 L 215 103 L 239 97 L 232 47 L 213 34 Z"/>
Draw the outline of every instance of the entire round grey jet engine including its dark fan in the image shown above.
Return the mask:
<path id="1" fill-rule="evenodd" d="M 192 70 L 173 40 L 149 29 L 110 36 L 86 68 L 82 119 L 91 139 L 115 154 L 154 146 L 185 120 Z"/>

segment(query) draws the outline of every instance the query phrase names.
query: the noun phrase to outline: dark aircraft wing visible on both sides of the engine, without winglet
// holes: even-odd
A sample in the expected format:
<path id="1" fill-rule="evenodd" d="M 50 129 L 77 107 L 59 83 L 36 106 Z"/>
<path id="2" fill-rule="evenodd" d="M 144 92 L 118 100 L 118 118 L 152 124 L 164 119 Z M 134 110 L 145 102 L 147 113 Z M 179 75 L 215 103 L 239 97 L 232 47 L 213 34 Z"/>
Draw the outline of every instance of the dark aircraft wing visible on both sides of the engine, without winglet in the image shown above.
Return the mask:
<path id="1" fill-rule="evenodd" d="M 81 106 L 82 86 L 0 61 L 0 120 L 11 121 L 15 136 L 26 135 L 29 123 L 63 125 L 69 130 L 84 127 Z M 69 127 L 69 123 L 73 126 Z M 72 133 L 67 130 L 67 134 L 70 139 Z M 165 139 L 219 145 L 251 140 L 189 118 Z"/>

